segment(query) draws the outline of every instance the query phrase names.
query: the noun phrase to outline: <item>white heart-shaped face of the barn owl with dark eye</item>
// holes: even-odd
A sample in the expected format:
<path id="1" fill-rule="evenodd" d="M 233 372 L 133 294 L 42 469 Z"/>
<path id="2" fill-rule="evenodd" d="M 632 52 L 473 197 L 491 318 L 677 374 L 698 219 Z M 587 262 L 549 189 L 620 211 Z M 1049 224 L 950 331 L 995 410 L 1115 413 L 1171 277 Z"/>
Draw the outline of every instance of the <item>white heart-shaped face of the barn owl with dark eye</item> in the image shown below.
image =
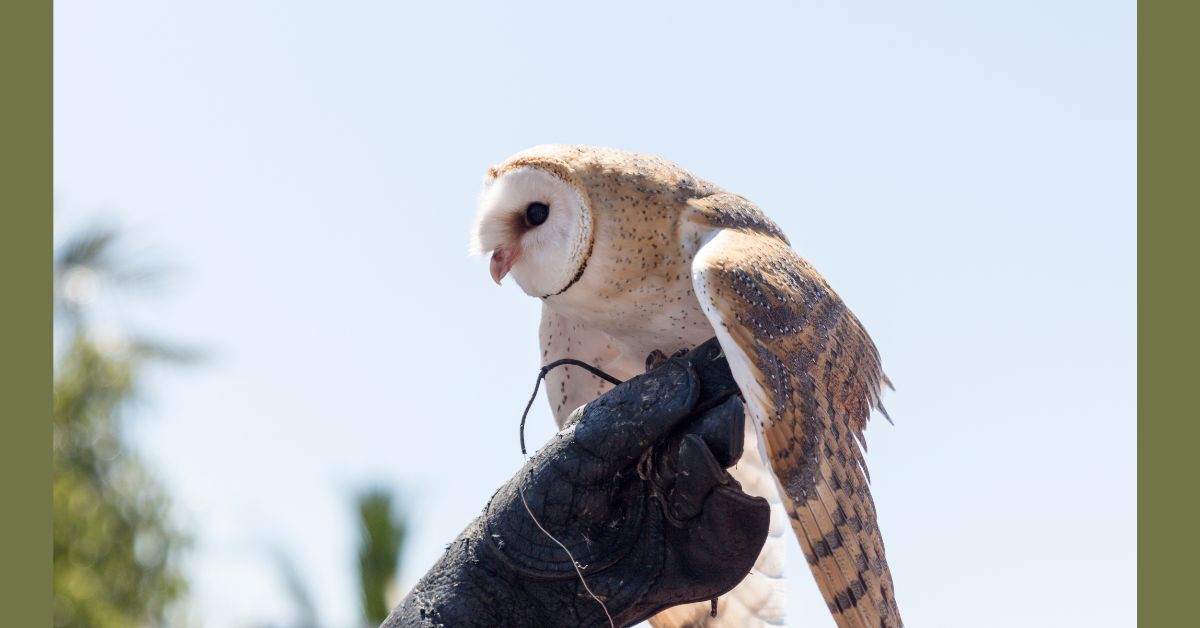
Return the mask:
<path id="1" fill-rule="evenodd" d="M 492 253 L 492 279 L 511 274 L 530 297 L 552 297 L 578 279 L 592 249 L 592 213 L 557 174 L 522 166 L 484 184 L 473 252 Z"/>

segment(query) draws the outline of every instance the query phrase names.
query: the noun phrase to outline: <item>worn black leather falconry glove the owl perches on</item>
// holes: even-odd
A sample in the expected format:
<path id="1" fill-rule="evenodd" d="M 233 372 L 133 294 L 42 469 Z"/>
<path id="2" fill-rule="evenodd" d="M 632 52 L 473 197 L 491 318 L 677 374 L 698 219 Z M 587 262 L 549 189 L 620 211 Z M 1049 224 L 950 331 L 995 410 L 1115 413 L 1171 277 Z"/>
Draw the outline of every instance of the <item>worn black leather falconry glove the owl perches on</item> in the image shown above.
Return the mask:
<path id="1" fill-rule="evenodd" d="M 714 339 L 580 408 L 384 626 L 630 626 L 730 591 L 769 519 L 725 472 L 736 391 Z"/>

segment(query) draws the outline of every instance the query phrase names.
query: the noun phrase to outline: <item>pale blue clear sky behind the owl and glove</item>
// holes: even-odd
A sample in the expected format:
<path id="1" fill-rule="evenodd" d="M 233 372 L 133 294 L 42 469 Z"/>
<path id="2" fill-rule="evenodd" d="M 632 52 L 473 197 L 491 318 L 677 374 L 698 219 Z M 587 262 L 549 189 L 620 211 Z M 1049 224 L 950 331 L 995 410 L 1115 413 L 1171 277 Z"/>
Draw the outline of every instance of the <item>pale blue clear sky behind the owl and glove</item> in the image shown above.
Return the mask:
<path id="1" fill-rule="evenodd" d="M 402 5 L 55 4 L 56 232 L 180 268 L 126 316 L 212 354 L 134 430 L 205 626 L 287 620 L 271 544 L 352 626 L 354 489 L 404 491 L 412 582 L 520 466 L 539 304 L 466 251 L 547 142 L 754 199 L 868 325 L 908 624 L 1134 623 L 1134 2 Z"/>

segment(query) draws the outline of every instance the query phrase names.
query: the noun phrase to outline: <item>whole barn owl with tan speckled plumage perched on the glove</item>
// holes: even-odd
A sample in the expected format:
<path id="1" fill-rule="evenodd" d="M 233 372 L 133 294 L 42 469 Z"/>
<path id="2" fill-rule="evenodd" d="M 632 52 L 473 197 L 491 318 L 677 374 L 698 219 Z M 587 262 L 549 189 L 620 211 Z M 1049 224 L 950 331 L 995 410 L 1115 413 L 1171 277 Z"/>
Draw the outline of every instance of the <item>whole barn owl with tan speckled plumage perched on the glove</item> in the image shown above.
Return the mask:
<path id="1" fill-rule="evenodd" d="M 473 235 L 497 283 L 541 299 L 542 364 L 625 379 L 714 335 L 730 363 L 751 419 L 733 474 L 773 501 L 770 537 L 716 618 L 694 604 L 652 624 L 781 623 L 790 522 L 839 627 L 901 626 L 860 449 L 890 384 L 858 318 L 762 210 L 659 157 L 542 145 L 487 172 Z M 546 379 L 559 425 L 610 388 L 574 366 Z"/>

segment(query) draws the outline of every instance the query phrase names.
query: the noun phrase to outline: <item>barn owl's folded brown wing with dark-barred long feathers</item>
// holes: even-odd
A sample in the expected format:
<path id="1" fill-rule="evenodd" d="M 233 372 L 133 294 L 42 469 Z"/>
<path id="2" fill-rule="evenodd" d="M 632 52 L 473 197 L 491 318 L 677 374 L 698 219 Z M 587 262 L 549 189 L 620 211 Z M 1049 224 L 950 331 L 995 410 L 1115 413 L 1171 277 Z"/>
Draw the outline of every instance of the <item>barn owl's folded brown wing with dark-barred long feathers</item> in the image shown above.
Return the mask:
<path id="1" fill-rule="evenodd" d="M 812 575 L 839 627 L 899 627 L 863 430 L 878 353 L 817 271 L 748 201 L 692 202 L 692 285 L 716 330 Z"/>

